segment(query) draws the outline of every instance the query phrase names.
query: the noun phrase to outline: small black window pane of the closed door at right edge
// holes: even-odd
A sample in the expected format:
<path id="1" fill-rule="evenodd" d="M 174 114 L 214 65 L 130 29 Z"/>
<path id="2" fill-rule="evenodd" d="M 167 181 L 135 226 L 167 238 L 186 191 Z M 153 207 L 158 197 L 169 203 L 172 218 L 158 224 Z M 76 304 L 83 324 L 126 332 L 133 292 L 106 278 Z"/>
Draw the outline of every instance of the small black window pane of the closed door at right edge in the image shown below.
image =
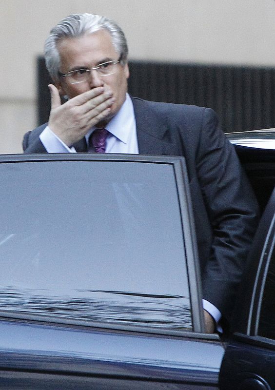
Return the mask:
<path id="1" fill-rule="evenodd" d="M 275 340 L 275 246 L 270 259 L 269 270 L 265 282 L 258 334 Z"/>

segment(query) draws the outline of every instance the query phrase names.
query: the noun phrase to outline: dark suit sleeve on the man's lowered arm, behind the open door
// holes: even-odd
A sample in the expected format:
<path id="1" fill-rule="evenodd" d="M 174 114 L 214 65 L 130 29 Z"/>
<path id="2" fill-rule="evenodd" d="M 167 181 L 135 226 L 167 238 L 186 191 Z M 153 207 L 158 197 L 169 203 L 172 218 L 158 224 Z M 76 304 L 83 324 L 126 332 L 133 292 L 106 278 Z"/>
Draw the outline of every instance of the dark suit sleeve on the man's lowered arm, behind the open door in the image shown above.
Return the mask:
<path id="1" fill-rule="evenodd" d="M 212 230 L 202 269 L 203 298 L 230 316 L 258 222 L 258 205 L 235 148 L 205 109 L 196 172 Z"/>

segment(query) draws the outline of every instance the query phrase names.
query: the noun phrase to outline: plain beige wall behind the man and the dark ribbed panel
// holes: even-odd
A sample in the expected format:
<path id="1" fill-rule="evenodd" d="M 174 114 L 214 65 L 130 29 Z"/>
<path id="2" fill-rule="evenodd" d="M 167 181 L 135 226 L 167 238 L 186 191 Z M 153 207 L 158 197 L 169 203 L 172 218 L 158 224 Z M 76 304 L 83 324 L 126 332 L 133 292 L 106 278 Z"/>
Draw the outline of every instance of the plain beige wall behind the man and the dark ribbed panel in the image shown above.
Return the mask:
<path id="1" fill-rule="evenodd" d="M 36 57 L 71 13 L 118 22 L 130 58 L 275 66 L 274 0 L 0 0 L 0 153 L 36 126 Z"/>

